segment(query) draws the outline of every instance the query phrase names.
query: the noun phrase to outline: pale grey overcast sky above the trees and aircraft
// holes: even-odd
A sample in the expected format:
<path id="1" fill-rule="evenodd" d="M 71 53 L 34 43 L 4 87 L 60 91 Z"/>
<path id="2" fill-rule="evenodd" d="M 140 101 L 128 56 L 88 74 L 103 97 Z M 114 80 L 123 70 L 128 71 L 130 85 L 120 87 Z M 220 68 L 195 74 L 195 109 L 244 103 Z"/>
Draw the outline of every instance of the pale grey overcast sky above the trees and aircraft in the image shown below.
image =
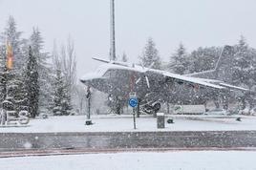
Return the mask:
<path id="1" fill-rule="evenodd" d="M 116 0 L 117 55 L 138 61 L 149 36 L 166 61 L 180 42 L 190 52 L 233 45 L 243 34 L 256 48 L 255 7 L 255 0 Z M 100 64 L 91 57 L 109 58 L 109 8 L 109 0 L 0 0 L 0 31 L 12 15 L 23 37 L 39 28 L 48 52 L 70 34 L 80 76 Z"/>

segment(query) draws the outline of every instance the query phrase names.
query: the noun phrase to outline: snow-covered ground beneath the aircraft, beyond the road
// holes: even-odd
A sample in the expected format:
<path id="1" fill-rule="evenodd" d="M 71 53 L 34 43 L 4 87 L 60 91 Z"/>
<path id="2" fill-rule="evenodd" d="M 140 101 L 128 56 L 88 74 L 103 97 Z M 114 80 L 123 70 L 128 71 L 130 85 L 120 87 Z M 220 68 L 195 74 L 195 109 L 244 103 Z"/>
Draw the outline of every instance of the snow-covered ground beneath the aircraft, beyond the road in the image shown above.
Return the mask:
<path id="1" fill-rule="evenodd" d="M 157 129 L 156 118 L 143 116 L 137 118 L 137 130 L 130 115 L 94 116 L 92 120 L 94 125 L 85 126 L 85 116 L 36 118 L 27 127 L 2 127 L 0 133 L 256 130 L 256 117 L 236 121 L 235 117 L 176 116 L 174 124 L 166 123 L 165 129 Z"/>

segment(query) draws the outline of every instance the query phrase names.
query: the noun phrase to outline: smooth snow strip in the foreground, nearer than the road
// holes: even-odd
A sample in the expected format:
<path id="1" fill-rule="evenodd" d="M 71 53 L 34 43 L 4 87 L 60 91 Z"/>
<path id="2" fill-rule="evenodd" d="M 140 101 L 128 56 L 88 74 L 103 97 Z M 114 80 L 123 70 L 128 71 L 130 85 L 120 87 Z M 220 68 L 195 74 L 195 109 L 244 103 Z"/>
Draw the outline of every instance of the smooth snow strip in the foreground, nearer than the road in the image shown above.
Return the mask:
<path id="1" fill-rule="evenodd" d="M 178 151 L 0 159 L 4 170 L 255 170 L 256 152 Z"/>

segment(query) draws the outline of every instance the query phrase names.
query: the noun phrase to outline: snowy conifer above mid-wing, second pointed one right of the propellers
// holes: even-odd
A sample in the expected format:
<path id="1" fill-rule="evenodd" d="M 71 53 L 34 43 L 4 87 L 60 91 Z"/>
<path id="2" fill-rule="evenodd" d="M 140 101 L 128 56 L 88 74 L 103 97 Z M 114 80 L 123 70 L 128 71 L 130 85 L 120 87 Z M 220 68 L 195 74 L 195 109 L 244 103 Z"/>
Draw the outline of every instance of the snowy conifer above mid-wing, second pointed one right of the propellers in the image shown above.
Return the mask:
<path id="1" fill-rule="evenodd" d="M 177 52 L 171 56 L 170 70 L 176 74 L 185 74 L 188 69 L 187 53 L 182 44 L 180 44 Z"/>

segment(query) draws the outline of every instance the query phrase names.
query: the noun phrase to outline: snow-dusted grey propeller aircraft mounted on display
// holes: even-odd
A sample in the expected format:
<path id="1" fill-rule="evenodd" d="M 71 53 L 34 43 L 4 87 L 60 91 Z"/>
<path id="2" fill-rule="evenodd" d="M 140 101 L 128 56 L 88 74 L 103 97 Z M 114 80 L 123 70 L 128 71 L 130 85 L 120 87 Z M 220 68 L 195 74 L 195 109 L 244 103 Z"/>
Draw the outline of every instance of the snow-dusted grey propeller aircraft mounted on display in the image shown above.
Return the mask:
<path id="1" fill-rule="evenodd" d="M 146 113 L 155 114 L 160 110 L 160 103 L 179 103 L 181 97 L 189 101 L 195 100 L 197 103 L 194 104 L 203 104 L 205 96 L 212 99 L 216 94 L 222 95 L 227 91 L 247 92 L 247 89 L 230 85 L 222 79 L 223 74 L 231 74 L 222 67 L 228 62 L 225 61 L 225 56 L 230 53 L 232 47 L 225 46 L 214 70 L 185 75 L 127 62 L 93 58 L 104 64 L 99 66 L 96 72 L 82 76 L 80 81 L 122 100 L 128 99 L 129 93 L 136 92 L 141 109 Z"/>

